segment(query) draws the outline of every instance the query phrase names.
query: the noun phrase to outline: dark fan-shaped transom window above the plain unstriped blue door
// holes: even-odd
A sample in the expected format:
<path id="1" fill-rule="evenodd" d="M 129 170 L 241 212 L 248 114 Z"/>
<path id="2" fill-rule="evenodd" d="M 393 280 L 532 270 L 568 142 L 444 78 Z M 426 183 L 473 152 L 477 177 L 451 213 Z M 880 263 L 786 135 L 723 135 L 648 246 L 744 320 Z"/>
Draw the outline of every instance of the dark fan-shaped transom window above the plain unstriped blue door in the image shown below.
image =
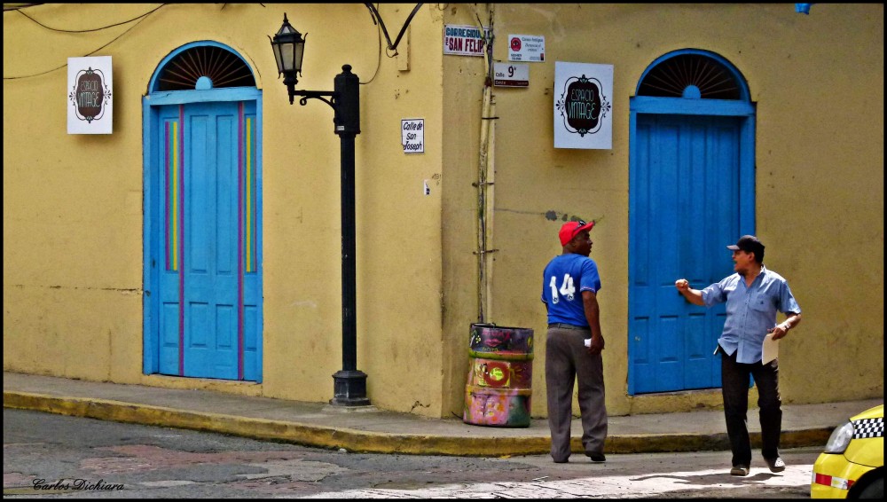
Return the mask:
<path id="1" fill-rule="evenodd" d="M 723 63 L 702 54 L 665 59 L 640 82 L 638 96 L 742 99 L 742 85 Z"/>

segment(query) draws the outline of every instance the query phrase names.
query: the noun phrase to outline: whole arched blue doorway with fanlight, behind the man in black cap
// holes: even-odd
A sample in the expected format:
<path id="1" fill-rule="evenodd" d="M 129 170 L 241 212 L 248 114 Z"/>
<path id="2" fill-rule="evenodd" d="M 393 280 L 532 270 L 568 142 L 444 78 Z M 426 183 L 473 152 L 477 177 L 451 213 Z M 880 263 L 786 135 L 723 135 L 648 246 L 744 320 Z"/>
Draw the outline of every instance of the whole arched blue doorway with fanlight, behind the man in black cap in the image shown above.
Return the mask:
<path id="1" fill-rule="evenodd" d="M 700 68 L 701 80 L 668 82 L 679 74 L 656 68 L 669 64 Z M 722 78 L 711 79 L 717 71 Z M 705 82 L 725 79 L 735 89 L 716 92 L 727 98 L 706 96 Z M 690 305 L 674 281 L 703 287 L 726 277 L 726 244 L 754 231 L 754 106 L 741 75 L 706 51 L 657 59 L 639 94 L 631 103 L 629 393 L 717 388 L 712 353 L 725 310 Z"/>

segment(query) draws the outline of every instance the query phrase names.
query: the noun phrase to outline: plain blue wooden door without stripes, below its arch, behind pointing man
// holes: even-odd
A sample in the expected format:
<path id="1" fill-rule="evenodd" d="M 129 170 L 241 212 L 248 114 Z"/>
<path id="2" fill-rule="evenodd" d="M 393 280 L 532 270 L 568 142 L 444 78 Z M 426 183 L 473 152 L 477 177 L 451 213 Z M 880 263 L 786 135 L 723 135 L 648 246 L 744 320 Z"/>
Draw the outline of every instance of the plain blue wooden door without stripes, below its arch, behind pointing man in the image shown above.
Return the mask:
<path id="1" fill-rule="evenodd" d="M 639 114 L 632 141 L 629 354 L 632 393 L 720 387 L 712 352 L 723 305 L 704 309 L 674 287 L 733 273 L 740 232 L 741 119 Z"/>

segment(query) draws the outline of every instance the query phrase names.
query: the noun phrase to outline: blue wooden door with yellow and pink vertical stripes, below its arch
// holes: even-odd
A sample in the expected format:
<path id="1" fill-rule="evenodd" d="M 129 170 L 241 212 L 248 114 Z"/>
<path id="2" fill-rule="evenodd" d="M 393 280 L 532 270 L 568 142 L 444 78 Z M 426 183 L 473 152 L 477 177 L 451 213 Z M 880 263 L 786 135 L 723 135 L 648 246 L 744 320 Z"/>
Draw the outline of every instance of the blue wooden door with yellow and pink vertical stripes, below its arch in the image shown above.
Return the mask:
<path id="1" fill-rule="evenodd" d="M 255 102 L 158 114 L 159 373 L 256 380 Z"/>

